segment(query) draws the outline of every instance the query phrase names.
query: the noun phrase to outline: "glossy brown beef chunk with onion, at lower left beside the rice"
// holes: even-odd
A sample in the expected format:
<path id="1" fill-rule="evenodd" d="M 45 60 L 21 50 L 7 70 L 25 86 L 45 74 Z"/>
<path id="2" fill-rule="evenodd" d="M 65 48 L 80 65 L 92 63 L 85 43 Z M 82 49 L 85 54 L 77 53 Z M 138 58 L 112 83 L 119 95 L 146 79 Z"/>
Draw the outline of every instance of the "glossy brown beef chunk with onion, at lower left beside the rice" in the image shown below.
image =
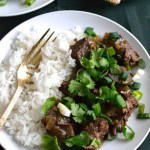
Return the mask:
<path id="1" fill-rule="evenodd" d="M 56 136 L 60 143 L 65 138 L 74 136 L 75 134 L 70 118 L 61 115 L 56 106 L 42 119 L 42 123 L 47 132 L 52 136 Z"/>

